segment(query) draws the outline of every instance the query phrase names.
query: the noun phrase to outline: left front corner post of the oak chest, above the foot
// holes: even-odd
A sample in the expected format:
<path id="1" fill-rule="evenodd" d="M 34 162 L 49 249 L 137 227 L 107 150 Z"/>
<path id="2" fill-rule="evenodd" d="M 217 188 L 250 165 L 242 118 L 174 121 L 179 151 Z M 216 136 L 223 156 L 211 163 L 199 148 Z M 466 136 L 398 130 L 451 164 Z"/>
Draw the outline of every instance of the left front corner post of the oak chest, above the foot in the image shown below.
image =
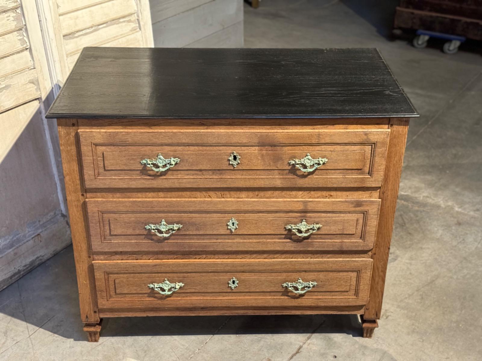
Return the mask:
<path id="1" fill-rule="evenodd" d="M 85 189 L 81 184 L 80 148 L 77 139 L 77 120 L 57 119 L 70 232 L 74 247 L 75 269 L 79 286 L 80 319 L 99 322 L 95 296 L 94 268 L 85 213 Z"/>

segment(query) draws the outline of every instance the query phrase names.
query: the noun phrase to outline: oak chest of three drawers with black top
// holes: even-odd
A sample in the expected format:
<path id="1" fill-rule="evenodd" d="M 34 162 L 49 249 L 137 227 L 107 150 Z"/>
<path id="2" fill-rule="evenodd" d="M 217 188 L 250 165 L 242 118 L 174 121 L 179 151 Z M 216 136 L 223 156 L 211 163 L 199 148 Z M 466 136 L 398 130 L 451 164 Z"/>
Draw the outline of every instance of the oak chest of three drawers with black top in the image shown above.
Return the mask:
<path id="1" fill-rule="evenodd" d="M 371 337 L 414 116 L 374 49 L 85 48 L 48 117 L 89 341 L 160 315 L 351 313 Z"/>

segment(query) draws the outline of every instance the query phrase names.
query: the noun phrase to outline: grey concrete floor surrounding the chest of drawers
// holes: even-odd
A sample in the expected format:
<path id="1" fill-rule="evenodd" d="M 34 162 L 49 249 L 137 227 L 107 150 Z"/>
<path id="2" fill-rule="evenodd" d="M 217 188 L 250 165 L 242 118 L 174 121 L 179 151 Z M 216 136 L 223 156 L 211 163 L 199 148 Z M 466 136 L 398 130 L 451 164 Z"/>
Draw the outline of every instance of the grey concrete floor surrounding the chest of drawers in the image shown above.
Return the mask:
<path id="1" fill-rule="evenodd" d="M 68 247 L 0 292 L 0 360 L 481 360 L 481 55 L 390 42 L 398 1 L 360 2 L 262 1 L 245 45 L 377 47 L 422 115 L 373 339 L 354 316 L 157 317 L 106 320 L 87 343 Z"/>

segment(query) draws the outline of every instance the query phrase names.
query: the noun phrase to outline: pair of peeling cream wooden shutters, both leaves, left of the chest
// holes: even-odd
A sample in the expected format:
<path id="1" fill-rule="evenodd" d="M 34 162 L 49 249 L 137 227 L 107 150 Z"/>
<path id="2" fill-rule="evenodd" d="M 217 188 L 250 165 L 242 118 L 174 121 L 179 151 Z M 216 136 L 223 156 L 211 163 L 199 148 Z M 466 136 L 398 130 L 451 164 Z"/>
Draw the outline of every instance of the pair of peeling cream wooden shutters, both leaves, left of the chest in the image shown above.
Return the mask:
<path id="1" fill-rule="evenodd" d="M 0 0 L 0 290 L 70 244 L 55 120 L 84 46 L 152 46 L 147 0 Z"/>

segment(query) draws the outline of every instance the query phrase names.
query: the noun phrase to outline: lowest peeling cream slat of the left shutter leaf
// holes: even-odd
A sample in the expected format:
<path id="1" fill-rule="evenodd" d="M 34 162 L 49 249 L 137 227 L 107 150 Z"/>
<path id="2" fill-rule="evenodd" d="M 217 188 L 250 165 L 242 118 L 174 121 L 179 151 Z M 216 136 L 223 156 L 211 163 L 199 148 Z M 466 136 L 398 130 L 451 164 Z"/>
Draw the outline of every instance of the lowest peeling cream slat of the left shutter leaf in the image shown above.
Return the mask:
<path id="1" fill-rule="evenodd" d="M 40 98 L 37 70 L 30 69 L 0 79 L 0 112 Z"/>

